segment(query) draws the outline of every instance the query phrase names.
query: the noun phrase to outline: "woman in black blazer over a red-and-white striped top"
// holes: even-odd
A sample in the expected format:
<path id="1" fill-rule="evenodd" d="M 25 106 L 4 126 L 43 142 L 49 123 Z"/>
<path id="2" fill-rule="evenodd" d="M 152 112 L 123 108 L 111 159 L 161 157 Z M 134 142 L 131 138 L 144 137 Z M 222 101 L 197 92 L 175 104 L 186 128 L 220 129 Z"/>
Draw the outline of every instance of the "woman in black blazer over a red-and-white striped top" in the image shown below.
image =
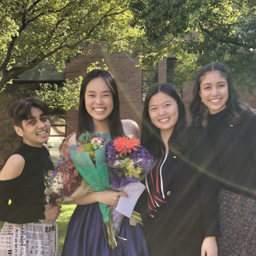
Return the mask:
<path id="1" fill-rule="evenodd" d="M 187 130 L 184 105 L 172 84 L 148 91 L 141 142 L 158 163 L 145 179 L 140 207 L 150 255 L 217 256 L 215 167 L 204 157 L 210 148 L 206 137 L 197 141 L 196 132 Z"/>

